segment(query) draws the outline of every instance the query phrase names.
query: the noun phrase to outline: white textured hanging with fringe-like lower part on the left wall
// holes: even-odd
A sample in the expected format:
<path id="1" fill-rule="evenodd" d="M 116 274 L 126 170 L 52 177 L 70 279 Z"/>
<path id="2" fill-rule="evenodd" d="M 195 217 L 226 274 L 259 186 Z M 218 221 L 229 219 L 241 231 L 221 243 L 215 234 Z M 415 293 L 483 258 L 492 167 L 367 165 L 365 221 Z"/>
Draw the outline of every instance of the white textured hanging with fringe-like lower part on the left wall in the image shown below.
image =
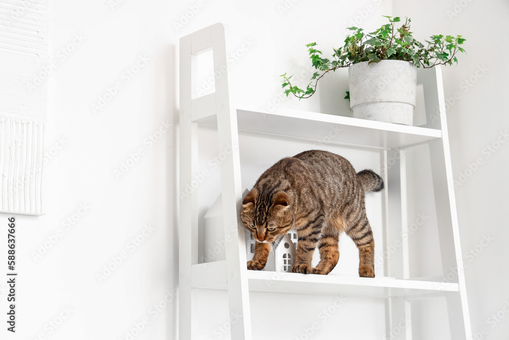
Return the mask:
<path id="1" fill-rule="evenodd" d="M 0 212 L 42 215 L 47 0 L 0 1 Z"/>

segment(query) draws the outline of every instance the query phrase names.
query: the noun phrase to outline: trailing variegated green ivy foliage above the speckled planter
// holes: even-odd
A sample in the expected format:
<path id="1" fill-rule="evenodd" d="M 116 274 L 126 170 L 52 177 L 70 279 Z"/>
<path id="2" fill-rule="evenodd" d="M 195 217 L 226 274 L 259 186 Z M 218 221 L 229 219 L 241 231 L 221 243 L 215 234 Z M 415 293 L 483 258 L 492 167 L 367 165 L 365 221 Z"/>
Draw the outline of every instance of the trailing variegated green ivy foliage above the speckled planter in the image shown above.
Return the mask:
<path id="1" fill-rule="evenodd" d="M 433 35 L 423 44 L 412 36 L 410 18 L 406 18 L 398 28 L 397 23 L 402 22 L 400 17 L 384 17 L 389 23 L 372 33 L 364 33 L 363 29 L 357 27 L 348 28 L 351 33 L 345 38 L 345 44 L 340 48 L 332 48 L 334 53 L 331 59 L 323 57 L 322 51 L 316 48 L 316 42 L 307 44 L 309 58 L 316 72 L 305 89 L 292 85 L 292 75 L 281 74 L 285 94 L 293 94 L 299 99 L 309 98 L 315 94 L 318 81 L 325 74 L 364 61 L 372 64 L 381 60 L 402 60 L 417 67 L 430 68 L 458 63 L 456 54 L 465 51 L 460 47 L 465 41 L 461 35 Z"/>

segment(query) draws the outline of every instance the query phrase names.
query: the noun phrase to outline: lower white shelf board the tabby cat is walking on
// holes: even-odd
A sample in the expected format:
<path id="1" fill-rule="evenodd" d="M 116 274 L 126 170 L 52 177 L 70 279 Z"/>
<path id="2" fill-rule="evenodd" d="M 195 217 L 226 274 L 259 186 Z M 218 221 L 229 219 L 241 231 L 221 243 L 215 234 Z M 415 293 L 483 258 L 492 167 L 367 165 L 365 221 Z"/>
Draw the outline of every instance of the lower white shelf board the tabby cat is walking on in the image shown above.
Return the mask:
<path id="1" fill-rule="evenodd" d="M 193 265 L 191 286 L 202 289 L 227 289 L 226 261 Z M 249 291 L 298 294 L 343 294 L 364 297 L 426 298 L 458 292 L 457 283 L 400 280 L 388 277 L 364 278 L 340 275 L 315 275 L 247 271 Z"/>

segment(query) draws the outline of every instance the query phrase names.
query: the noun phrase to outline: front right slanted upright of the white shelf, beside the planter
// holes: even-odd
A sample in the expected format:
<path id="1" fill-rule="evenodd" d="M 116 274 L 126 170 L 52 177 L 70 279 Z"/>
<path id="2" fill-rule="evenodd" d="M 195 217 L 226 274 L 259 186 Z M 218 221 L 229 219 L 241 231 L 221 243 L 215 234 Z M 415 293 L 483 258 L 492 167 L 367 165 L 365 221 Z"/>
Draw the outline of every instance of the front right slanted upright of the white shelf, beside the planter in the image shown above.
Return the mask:
<path id="1" fill-rule="evenodd" d="M 470 316 L 463 271 L 460 230 L 456 211 L 453 169 L 445 116 L 442 69 L 421 70 L 418 82 L 425 88 L 426 127 L 442 131 L 442 138 L 428 142 L 430 147 L 435 208 L 438 222 L 443 275 L 453 273 L 451 282 L 459 285 L 459 293 L 446 294 L 451 339 L 472 339 Z"/>

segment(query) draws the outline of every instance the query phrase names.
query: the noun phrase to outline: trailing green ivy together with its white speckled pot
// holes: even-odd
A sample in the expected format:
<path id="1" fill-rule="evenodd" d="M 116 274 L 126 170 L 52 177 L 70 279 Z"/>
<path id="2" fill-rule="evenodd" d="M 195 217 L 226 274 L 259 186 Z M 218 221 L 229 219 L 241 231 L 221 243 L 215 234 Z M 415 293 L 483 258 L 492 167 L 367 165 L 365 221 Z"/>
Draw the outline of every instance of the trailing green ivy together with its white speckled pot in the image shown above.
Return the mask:
<path id="1" fill-rule="evenodd" d="M 400 17 L 385 17 L 389 23 L 372 33 L 350 27 L 352 33 L 346 37 L 345 45 L 333 48 L 332 60 L 323 58 L 316 42 L 307 44 L 317 72 L 305 90 L 292 85 L 292 76 L 282 74 L 286 95 L 309 98 L 325 74 L 349 67 L 350 91 L 345 99 L 350 99 L 354 118 L 412 125 L 417 67 L 458 63 L 456 54 L 465 51 L 459 46 L 465 39 L 460 35 L 434 35 L 425 40 L 425 45 L 412 36 L 409 18 L 397 28 L 395 23 L 401 21 Z"/>

